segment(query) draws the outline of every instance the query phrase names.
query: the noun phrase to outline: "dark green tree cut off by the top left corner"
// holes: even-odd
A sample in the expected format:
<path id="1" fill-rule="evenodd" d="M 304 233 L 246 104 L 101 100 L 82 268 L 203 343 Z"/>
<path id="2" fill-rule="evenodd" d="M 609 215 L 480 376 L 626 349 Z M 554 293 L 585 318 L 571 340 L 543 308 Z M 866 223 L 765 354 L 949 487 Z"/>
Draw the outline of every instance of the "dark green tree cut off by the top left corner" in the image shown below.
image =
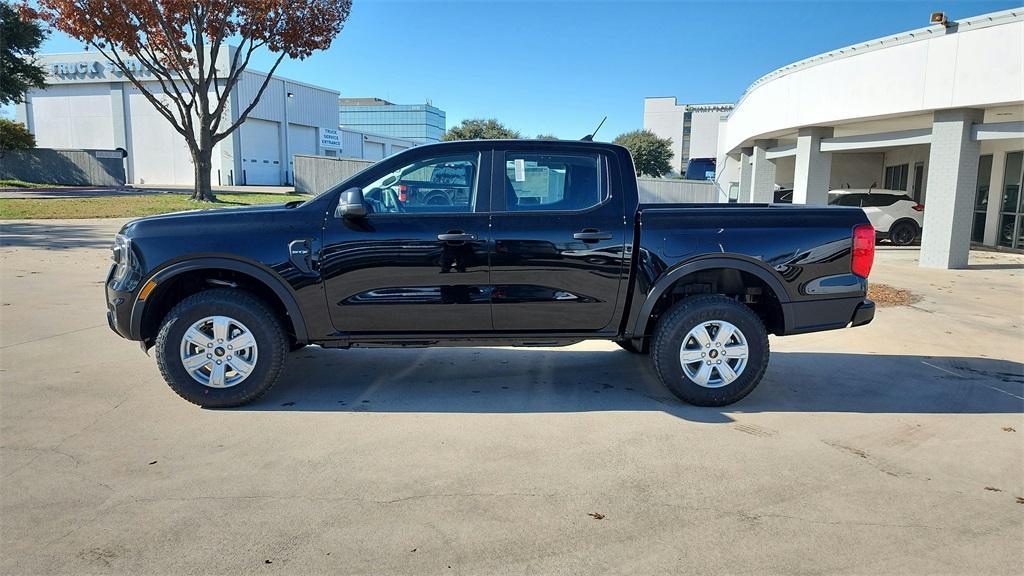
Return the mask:
<path id="1" fill-rule="evenodd" d="M 0 2 L 0 105 L 24 101 L 26 92 L 45 85 L 46 71 L 34 57 L 44 39 L 38 22 Z"/>

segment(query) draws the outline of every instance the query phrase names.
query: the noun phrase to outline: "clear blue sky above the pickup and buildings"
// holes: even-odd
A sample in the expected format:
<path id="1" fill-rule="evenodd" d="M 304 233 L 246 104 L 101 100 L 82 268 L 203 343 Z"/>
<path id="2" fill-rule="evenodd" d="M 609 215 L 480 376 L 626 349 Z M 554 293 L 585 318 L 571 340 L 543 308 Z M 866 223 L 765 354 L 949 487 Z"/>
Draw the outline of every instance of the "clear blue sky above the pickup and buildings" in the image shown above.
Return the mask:
<path id="1" fill-rule="evenodd" d="M 354 0 L 329 50 L 279 74 L 396 104 L 426 99 L 524 134 L 641 128 L 644 96 L 735 101 L 761 75 L 858 41 L 1020 6 L 1000 1 L 403 2 Z M 43 52 L 81 48 L 54 34 Z M 268 55 L 254 68 L 268 68 Z"/>

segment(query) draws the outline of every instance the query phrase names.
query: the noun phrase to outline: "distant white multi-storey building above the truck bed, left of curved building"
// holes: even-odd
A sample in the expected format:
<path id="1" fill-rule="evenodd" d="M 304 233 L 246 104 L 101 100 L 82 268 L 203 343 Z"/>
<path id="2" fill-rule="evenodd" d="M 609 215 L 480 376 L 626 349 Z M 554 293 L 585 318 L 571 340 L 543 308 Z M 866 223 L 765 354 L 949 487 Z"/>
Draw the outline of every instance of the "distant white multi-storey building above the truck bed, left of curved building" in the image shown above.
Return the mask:
<path id="1" fill-rule="evenodd" d="M 643 127 L 672 139 L 672 169 L 683 174 L 691 158 L 718 157 L 718 130 L 731 104 L 679 104 L 672 96 L 643 100 Z"/>

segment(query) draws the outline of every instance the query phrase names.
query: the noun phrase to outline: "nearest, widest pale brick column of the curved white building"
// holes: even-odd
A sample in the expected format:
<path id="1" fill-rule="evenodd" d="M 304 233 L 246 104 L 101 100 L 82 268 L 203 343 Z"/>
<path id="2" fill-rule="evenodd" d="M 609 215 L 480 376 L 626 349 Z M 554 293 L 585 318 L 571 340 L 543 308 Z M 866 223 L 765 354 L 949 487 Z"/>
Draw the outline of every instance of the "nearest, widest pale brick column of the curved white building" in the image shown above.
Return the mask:
<path id="1" fill-rule="evenodd" d="M 921 241 L 922 266 L 967 268 L 981 154 L 981 145 L 971 139 L 971 125 L 983 118 L 983 111 L 974 109 L 935 112 L 928 160 L 928 208 Z"/>

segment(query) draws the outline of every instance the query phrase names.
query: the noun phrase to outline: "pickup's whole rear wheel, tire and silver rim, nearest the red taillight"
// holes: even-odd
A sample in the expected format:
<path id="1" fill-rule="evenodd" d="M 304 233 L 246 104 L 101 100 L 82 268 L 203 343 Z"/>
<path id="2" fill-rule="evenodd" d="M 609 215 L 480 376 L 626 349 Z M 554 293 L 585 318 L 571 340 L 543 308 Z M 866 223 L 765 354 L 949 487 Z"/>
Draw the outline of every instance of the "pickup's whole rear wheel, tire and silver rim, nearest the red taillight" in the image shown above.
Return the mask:
<path id="1" fill-rule="evenodd" d="M 768 367 L 768 332 L 750 307 L 725 296 L 678 302 L 654 330 L 651 361 L 674 395 L 725 406 L 753 390 Z"/>

